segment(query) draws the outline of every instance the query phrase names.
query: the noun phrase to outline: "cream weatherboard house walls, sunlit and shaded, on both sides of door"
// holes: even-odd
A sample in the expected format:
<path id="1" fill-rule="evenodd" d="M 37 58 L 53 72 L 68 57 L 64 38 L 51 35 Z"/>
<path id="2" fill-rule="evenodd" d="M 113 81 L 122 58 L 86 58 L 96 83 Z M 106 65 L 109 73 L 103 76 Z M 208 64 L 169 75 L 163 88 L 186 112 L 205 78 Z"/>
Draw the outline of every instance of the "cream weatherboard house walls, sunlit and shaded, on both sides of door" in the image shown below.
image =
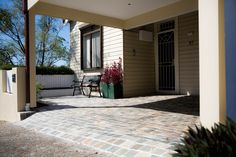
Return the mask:
<path id="1" fill-rule="evenodd" d="M 176 94 L 199 95 L 199 47 L 198 47 L 198 12 L 192 12 L 176 17 L 178 20 L 178 58 L 179 58 L 179 91 Z M 158 61 L 155 55 L 155 44 L 153 41 L 139 40 L 139 30 L 152 32 L 154 27 L 141 27 L 133 30 L 122 30 L 112 27 L 103 27 L 103 65 L 110 65 L 114 61 L 122 59 L 124 70 L 123 93 L 125 97 L 155 94 L 156 73 L 158 69 L 155 64 Z M 83 71 L 81 69 L 81 41 L 80 28 L 85 23 L 71 22 L 71 62 L 70 67 L 75 71 L 77 77 L 84 73 L 102 72 Z M 192 32 L 191 36 L 188 33 Z M 192 44 L 189 44 L 189 41 Z"/>

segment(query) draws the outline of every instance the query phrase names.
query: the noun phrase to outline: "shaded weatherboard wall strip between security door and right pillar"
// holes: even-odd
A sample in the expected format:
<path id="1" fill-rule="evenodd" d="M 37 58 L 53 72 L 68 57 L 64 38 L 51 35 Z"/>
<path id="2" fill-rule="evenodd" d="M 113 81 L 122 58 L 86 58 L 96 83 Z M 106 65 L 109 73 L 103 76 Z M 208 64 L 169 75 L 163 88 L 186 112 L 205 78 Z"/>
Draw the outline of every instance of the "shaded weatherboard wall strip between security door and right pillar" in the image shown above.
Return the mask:
<path id="1" fill-rule="evenodd" d="M 179 16 L 180 94 L 199 95 L 198 12 Z"/>

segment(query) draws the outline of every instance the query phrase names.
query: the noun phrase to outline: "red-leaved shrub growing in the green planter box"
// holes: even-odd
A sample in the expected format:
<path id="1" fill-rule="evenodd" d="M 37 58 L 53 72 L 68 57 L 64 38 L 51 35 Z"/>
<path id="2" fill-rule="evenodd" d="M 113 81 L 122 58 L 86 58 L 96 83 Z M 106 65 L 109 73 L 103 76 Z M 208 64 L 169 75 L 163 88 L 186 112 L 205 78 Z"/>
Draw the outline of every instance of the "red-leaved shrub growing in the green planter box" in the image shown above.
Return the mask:
<path id="1" fill-rule="evenodd" d="M 101 78 L 101 82 L 109 84 L 119 84 L 122 82 L 122 67 L 121 67 L 121 59 L 118 63 L 114 62 L 111 66 L 106 66 L 103 75 Z"/>

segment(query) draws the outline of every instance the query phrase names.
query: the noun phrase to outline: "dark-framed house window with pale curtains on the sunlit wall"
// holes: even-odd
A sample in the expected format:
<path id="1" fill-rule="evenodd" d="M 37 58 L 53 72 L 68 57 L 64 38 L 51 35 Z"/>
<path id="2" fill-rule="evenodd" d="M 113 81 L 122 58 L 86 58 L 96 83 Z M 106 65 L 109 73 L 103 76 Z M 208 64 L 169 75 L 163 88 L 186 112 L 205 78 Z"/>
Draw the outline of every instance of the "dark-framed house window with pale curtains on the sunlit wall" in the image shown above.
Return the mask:
<path id="1" fill-rule="evenodd" d="M 102 68 L 102 27 L 90 25 L 81 29 L 81 68 Z"/>

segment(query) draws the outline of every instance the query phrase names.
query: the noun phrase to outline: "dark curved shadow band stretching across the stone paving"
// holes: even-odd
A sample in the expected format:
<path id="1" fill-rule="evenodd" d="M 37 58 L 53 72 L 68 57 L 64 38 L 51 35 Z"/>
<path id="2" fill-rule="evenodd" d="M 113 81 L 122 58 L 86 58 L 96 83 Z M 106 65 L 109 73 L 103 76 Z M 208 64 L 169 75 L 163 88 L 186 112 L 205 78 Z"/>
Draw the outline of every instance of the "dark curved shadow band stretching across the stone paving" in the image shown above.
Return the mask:
<path id="1" fill-rule="evenodd" d="M 45 102 L 47 103 L 47 102 Z M 50 102 L 49 102 L 50 103 Z M 168 100 L 159 100 L 151 103 L 127 105 L 127 106 L 72 106 L 72 105 L 57 105 L 38 103 L 36 112 L 45 112 L 51 110 L 73 109 L 73 108 L 143 108 L 152 109 L 164 112 L 174 112 L 187 115 L 199 116 L 199 97 L 198 96 L 184 96 L 178 98 L 172 98 Z"/>

